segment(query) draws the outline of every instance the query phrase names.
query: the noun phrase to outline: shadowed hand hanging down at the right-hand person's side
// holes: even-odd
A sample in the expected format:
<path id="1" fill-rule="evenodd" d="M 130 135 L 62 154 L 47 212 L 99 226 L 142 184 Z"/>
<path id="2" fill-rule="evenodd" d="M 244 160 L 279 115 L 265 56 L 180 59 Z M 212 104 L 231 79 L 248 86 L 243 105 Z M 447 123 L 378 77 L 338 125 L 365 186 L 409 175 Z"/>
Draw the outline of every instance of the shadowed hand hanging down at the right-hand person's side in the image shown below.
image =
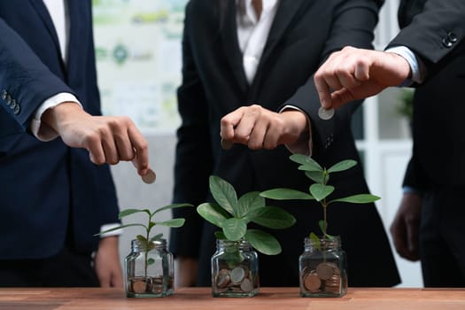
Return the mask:
<path id="1" fill-rule="evenodd" d="M 396 251 L 407 260 L 419 260 L 418 233 L 422 213 L 422 198 L 405 193 L 391 224 L 391 236 Z"/>

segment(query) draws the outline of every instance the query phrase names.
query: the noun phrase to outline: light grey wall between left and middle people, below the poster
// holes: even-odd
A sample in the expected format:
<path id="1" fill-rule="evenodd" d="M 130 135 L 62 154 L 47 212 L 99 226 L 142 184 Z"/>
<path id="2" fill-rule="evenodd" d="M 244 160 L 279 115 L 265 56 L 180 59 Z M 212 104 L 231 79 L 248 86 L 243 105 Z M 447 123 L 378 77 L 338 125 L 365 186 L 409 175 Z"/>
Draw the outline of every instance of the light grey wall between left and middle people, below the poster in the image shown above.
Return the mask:
<path id="1" fill-rule="evenodd" d="M 173 167 L 174 167 L 174 134 L 145 136 L 149 143 L 150 165 L 157 174 L 157 180 L 152 184 L 145 184 L 136 169 L 129 162 L 122 162 L 112 166 L 120 210 L 127 208 L 149 208 L 154 210 L 163 205 L 171 204 L 173 193 Z M 158 213 L 155 221 L 165 221 L 171 218 L 171 212 Z M 145 213 L 136 213 L 123 219 L 123 223 L 133 221 L 146 221 Z M 156 233 L 163 233 L 169 238 L 169 229 L 155 227 Z M 130 242 L 137 234 L 142 233 L 141 228 L 126 228 L 120 236 L 120 259 L 123 260 L 130 250 Z"/>

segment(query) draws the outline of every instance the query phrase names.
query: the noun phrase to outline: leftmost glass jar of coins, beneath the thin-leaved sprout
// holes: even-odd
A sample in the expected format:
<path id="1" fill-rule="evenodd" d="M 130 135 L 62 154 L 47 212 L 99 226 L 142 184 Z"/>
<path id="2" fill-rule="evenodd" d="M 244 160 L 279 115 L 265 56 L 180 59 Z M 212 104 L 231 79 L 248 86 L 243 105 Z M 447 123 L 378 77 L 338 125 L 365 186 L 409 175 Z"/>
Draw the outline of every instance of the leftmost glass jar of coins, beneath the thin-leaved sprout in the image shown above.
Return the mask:
<path id="1" fill-rule="evenodd" d="M 132 240 L 125 260 L 125 287 L 129 298 L 167 297 L 174 292 L 173 254 L 167 251 L 167 240 L 149 244 Z"/>

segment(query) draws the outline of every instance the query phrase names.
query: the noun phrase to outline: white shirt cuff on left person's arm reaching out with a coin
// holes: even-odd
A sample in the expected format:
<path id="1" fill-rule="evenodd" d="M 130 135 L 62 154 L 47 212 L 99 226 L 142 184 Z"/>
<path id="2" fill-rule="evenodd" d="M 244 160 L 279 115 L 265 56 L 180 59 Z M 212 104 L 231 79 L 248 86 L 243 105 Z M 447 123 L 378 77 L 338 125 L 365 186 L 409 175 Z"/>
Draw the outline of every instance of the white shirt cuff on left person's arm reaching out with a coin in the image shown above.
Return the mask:
<path id="1" fill-rule="evenodd" d="M 43 142 L 47 142 L 58 137 L 58 132 L 56 132 L 53 128 L 50 128 L 50 126 L 47 124 L 43 124 L 41 122 L 41 118 L 43 112 L 45 112 L 47 109 L 54 108 L 55 106 L 65 102 L 74 102 L 78 105 L 81 105 L 79 100 L 73 94 L 58 93 L 57 95 L 45 100 L 43 104 L 37 108 L 35 111 L 34 119 L 31 120 L 31 131 L 37 139 Z"/>

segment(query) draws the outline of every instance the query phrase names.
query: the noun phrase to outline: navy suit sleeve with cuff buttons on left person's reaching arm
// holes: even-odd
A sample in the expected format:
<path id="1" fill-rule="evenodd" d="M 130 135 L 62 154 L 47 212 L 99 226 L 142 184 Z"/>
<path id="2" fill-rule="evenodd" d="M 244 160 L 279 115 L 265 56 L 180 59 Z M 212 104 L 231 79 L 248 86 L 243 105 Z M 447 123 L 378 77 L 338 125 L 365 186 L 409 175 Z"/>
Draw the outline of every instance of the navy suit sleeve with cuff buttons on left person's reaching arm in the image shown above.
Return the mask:
<path id="1" fill-rule="evenodd" d="M 4 138 L 27 132 L 35 110 L 46 98 L 74 92 L 43 65 L 3 19 L 0 37 L 0 138 Z"/>

